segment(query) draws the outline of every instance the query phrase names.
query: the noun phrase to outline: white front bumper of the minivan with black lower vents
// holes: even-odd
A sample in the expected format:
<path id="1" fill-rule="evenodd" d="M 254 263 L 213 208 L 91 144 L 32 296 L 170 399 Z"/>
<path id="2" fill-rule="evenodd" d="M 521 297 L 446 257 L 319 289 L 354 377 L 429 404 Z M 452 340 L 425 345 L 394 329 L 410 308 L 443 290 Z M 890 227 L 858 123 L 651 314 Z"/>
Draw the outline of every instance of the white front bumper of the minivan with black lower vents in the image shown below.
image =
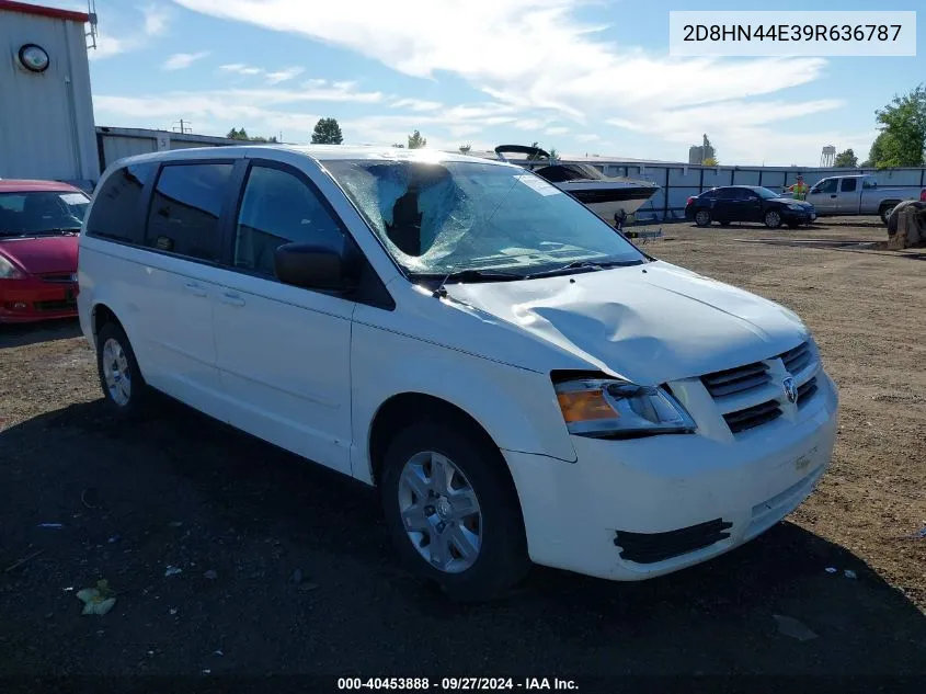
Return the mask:
<path id="1" fill-rule="evenodd" d="M 573 436 L 574 464 L 505 451 L 530 558 L 633 581 L 699 564 L 767 531 L 810 496 L 830 465 L 837 395 L 822 371 L 818 378 L 799 422 L 771 422 L 734 441 Z"/>

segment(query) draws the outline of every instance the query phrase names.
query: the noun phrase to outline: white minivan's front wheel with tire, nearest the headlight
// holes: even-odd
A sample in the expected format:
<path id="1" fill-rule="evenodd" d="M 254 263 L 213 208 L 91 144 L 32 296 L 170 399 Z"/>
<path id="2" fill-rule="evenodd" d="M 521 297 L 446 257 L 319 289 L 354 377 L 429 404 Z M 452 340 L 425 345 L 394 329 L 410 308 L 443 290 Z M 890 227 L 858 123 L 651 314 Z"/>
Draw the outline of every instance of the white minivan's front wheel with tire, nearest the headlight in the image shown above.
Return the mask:
<path id="1" fill-rule="evenodd" d="M 414 423 L 390 443 L 380 485 L 403 564 L 465 602 L 502 596 L 530 567 L 517 493 L 501 453 L 483 439 L 462 421 Z M 449 469 L 447 462 L 455 469 L 450 485 L 442 486 L 435 470 Z M 441 493 L 448 488 L 453 493 Z M 422 531 L 408 530 L 414 525 Z"/>

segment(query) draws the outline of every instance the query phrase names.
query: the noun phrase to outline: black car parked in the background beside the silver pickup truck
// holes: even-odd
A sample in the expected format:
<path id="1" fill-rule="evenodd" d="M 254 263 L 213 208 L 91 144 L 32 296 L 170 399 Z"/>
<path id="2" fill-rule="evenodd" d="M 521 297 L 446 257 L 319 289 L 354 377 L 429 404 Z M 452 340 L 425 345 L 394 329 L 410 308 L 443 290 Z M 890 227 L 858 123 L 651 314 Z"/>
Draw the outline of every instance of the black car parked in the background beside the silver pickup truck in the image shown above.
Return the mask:
<path id="1" fill-rule="evenodd" d="M 758 185 L 724 185 L 688 198 L 685 218 L 699 227 L 719 221 L 761 221 L 769 229 L 787 224 L 792 229 L 816 219 L 813 205 L 781 197 Z"/>

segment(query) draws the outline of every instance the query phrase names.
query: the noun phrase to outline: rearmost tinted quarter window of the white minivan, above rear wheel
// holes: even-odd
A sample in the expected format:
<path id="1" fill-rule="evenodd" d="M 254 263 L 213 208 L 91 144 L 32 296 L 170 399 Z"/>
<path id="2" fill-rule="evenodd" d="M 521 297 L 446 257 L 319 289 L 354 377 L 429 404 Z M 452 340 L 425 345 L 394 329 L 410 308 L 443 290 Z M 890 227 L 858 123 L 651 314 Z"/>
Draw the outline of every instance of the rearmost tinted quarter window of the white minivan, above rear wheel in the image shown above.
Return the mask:
<path id="1" fill-rule="evenodd" d="M 87 220 L 87 232 L 125 243 L 144 243 L 138 205 L 141 189 L 153 178 L 157 169 L 157 163 L 146 161 L 114 171 L 96 193 L 96 202 Z"/>

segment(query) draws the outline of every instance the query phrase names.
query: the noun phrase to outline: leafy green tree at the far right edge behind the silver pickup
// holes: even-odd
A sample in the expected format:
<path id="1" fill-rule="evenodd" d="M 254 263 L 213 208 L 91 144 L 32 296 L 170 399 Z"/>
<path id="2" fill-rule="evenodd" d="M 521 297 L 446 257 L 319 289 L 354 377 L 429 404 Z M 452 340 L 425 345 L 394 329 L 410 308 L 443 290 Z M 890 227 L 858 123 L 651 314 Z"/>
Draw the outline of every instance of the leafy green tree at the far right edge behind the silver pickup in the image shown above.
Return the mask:
<path id="1" fill-rule="evenodd" d="M 881 124 L 881 134 L 888 136 L 883 139 L 879 136 L 879 159 L 869 157 L 872 163 L 878 168 L 922 167 L 926 149 L 926 83 L 908 94 L 894 96 L 874 114 Z"/>

